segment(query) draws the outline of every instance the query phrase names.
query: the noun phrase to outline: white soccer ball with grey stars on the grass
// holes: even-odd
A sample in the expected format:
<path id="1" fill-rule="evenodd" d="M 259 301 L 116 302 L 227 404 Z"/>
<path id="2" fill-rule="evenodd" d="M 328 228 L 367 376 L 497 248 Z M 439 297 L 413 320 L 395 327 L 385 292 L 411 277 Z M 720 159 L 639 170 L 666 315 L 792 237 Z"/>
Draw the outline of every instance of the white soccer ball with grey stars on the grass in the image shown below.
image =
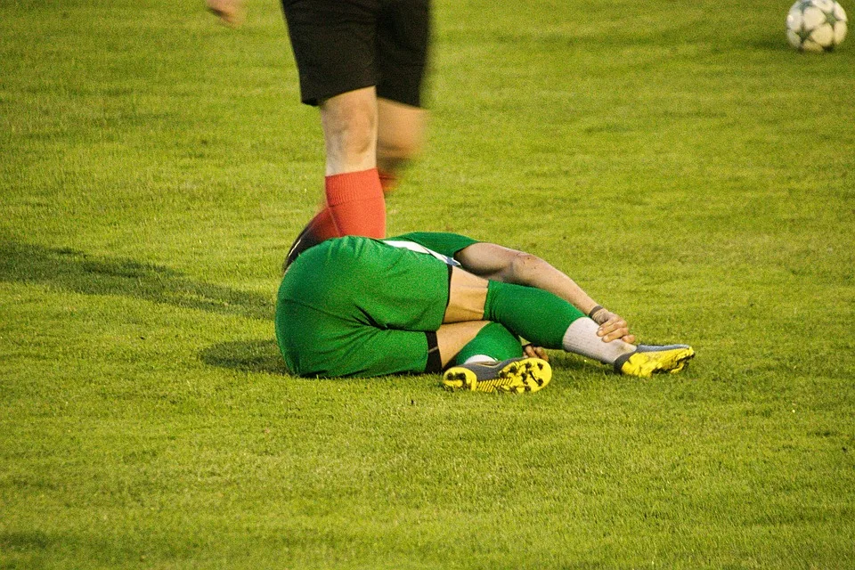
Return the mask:
<path id="1" fill-rule="evenodd" d="M 803 52 L 830 52 L 846 37 L 846 12 L 835 0 L 798 0 L 786 14 L 786 38 Z"/>

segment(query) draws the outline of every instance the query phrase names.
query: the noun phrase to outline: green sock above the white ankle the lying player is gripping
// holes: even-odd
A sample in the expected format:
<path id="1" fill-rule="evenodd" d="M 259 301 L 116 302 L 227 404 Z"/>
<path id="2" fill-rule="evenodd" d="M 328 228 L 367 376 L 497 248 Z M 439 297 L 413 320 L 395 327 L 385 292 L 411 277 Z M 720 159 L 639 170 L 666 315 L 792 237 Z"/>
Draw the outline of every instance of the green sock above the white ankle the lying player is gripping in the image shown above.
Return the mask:
<path id="1" fill-rule="evenodd" d="M 501 322 L 535 346 L 563 348 L 567 327 L 583 316 L 579 309 L 543 289 L 501 281 L 487 285 L 485 320 Z"/>

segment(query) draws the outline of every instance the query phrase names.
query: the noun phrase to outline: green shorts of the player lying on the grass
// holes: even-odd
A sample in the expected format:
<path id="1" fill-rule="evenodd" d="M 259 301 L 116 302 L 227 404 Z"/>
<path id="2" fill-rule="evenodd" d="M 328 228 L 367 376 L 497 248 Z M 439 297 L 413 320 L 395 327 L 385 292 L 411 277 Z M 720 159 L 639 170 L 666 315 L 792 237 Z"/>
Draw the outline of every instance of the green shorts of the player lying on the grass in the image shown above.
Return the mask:
<path id="1" fill-rule="evenodd" d="M 298 376 L 423 373 L 443 323 L 450 266 L 347 236 L 307 249 L 282 279 L 276 339 Z"/>

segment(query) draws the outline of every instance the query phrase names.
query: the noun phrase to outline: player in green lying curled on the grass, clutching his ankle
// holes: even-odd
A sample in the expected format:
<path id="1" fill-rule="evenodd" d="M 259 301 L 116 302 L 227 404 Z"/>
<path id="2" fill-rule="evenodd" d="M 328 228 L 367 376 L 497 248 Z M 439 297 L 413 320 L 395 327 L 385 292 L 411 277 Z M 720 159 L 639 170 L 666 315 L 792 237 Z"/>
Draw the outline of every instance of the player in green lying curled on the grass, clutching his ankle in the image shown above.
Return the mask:
<path id="1" fill-rule="evenodd" d="M 634 345 L 623 318 L 539 257 L 429 232 L 307 249 L 282 279 L 276 338 L 299 376 L 445 371 L 446 387 L 488 392 L 544 386 L 543 348 L 641 377 L 679 372 L 695 355 Z"/>

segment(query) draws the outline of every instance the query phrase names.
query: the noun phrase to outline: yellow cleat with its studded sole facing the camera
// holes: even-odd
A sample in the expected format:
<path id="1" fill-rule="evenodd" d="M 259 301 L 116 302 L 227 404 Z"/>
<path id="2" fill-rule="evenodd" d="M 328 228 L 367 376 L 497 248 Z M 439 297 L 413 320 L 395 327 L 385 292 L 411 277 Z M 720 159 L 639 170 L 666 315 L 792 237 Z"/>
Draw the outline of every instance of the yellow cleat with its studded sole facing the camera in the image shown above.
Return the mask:
<path id="1" fill-rule="evenodd" d="M 449 390 L 522 394 L 537 392 L 549 384 L 550 379 L 549 362 L 524 356 L 501 362 L 452 366 L 443 374 L 443 386 Z"/>

